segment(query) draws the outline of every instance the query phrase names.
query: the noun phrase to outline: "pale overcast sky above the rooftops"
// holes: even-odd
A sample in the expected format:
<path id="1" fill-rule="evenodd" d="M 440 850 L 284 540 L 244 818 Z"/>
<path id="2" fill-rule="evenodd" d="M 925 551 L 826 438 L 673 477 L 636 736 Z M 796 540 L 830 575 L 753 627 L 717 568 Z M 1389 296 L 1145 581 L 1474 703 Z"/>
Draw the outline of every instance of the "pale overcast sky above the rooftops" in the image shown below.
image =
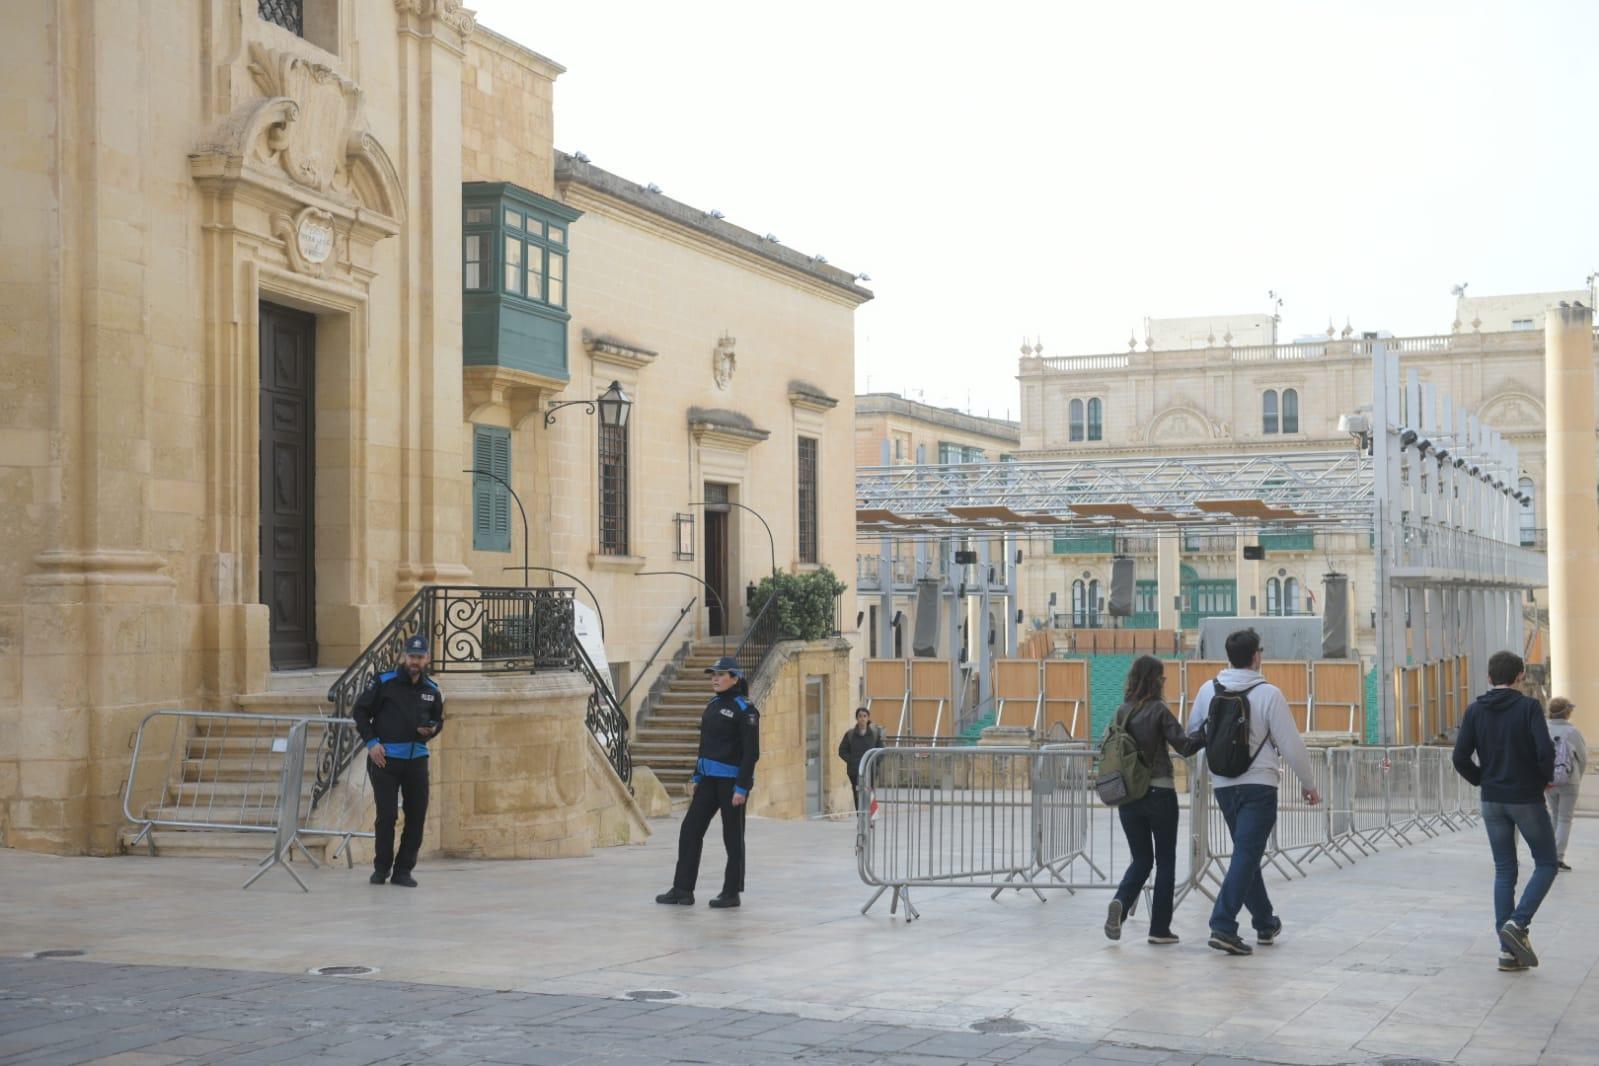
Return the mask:
<path id="1" fill-rule="evenodd" d="M 1599 270 L 1589 0 L 467 3 L 568 69 L 556 147 L 870 273 L 862 390 L 1014 417 L 1023 337 Z"/>

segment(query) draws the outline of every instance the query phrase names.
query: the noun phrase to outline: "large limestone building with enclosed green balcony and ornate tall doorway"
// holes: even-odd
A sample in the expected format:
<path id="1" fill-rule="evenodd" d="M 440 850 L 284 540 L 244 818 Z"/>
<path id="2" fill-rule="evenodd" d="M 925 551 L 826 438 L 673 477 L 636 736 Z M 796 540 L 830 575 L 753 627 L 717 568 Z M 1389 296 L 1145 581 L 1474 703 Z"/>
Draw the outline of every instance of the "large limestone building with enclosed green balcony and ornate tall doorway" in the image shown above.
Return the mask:
<path id="1" fill-rule="evenodd" d="M 847 569 L 849 515 L 817 500 L 849 484 L 870 294 L 558 168 L 560 67 L 459 0 L 27 3 L 0 50 L 0 842 L 115 850 L 147 711 L 315 713 L 417 590 L 520 585 L 481 463 L 528 503 L 531 563 L 600 598 L 622 679 L 692 595 L 638 571 L 713 556 L 704 633 L 769 569 L 731 515 L 707 550 L 707 486 L 780 567 Z M 582 408 L 545 428 L 612 380 L 625 436 Z M 473 730 L 446 735 L 437 805 L 477 820 L 430 842 L 593 844 L 571 678 L 464 694 L 484 738 L 542 702 L 515 722 L 537 780 L 464 777 Z"/>

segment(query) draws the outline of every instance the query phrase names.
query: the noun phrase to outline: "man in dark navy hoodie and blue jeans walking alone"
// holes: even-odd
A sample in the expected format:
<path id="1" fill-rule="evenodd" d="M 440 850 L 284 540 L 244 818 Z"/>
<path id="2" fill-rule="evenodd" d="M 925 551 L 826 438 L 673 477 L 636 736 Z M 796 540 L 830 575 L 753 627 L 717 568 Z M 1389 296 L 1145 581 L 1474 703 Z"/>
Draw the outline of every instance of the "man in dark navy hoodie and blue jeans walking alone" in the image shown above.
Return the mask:
<path id="1" fill-rule="evenodd" d="M 1543 791 L 1554 780 L 1554 743 L 1543 708 L 1516 686 L 1525 663 L 1516 652 L 1493 652 L 1489 682 L 1493 686 L 1466 708 L 1455 740 L 1455 770 L 1482 790 L 1482 826 L 1493 852 L 1493 930 L 1500 940 L 1498 969 L 1506 972 L 1538 965 L 1529 927 L 1548 895 L 1559 860 L 1554 823 Z M 1516 903 L 1516 834 L 1532 852 L 1532 877 Z M 1514 905 L 1514 908 L 1513 908 Z"/>

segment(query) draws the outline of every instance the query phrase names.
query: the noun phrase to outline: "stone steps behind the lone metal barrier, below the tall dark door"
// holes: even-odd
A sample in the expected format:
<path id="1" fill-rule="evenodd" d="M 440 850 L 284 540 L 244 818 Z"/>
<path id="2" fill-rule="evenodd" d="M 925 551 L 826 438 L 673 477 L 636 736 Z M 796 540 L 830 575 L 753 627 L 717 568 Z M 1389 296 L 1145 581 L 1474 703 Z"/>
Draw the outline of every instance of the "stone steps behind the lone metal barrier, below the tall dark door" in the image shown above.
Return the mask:
<path id="1" fill-rule="evenodd" d="M 337 681 L 341 670 L 277 671 L 267 681 L 264 692 L 240 695 L 237 710 L 256 714 L 323 714 L 328 710 L 328 687 Z M 198 722 L 185 740 L 182 751 L 147 751 L 146 766 L 160 762 L 171 766 L 165 796 L 158 801 L 168 812 L 181 810 L 195 821 L 224 821 L 240 825 L 275 823 L 280 791 L 281 754 L 272 751 L 273 737 L 283 735 L 283 722 L 261 724 L 229 719 Z M 301 785 L 302 809 L 309 809 L 312 788 L 317 783 L 317 762 L 307 754 L 305 777 Z M 155 805 L 152 801 L 146 809 Z M 123 850 L 144 850 L 138 826 L 122 829 Z M 154 829 L 157 855 L 259 858 L 272 850 L 269 833 L 240 829 Z M 305 837 L 305 847 L 321 861 L 336 847 L 336 841 L 323 836 Z"/>

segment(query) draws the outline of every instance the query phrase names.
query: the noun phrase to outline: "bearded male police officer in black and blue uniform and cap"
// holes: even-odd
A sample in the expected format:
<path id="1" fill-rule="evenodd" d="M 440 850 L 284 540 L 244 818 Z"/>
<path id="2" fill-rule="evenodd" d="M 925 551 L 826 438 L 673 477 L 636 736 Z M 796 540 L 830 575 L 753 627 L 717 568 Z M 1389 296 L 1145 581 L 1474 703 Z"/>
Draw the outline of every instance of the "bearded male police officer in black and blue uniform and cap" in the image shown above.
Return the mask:
<path id="1" fill-rule="evenodd" d="M 371 881 L 414 889 L 411 868 L 422 849 L 427 818 L 427 742 L 445 727 L 445 694 L 427 676 L 427 638 L 413 636 L 405 642 L 400 670 L 377 674 L 355 702 L 352 718 L 366 745 L 366 775 L 377 804 Z M 395 855 L 395 817 L 401 799 L 405 829 Z"/>

